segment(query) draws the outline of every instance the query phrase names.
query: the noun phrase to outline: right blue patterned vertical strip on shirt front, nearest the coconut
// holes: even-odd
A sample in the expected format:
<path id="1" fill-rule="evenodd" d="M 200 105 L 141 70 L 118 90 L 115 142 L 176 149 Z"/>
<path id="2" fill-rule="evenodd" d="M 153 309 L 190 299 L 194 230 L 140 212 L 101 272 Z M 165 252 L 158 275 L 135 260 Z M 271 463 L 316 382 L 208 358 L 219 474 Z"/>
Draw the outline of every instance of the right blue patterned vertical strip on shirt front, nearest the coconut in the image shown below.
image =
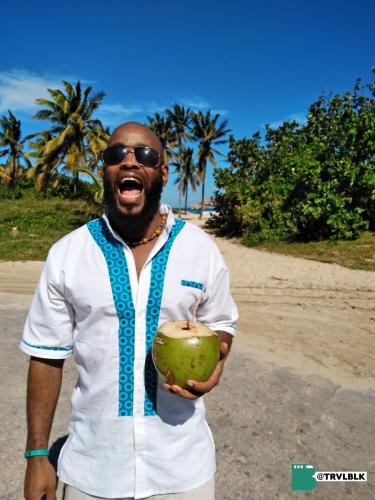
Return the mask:
<path id="1" fill-rule="evenodd" d="M 168 241 L 154 256 L 151 267 L 150 292 L 146 311 L 146 364 L 144 414 L 156 414 L 158 375 L 152 362 L 151 348 L 159 325 L 160 304 L 163 295 L 165 269 L 172 244 L 184 227 L 185 222 L 177 219 L 172 226 Z"/>

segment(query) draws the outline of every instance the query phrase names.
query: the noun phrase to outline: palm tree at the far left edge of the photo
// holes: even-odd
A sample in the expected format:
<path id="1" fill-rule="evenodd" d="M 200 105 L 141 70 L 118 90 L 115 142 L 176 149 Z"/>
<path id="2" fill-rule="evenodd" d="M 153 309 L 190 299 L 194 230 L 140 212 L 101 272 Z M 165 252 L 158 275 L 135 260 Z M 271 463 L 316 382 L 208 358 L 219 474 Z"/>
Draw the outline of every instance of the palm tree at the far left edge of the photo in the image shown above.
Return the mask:
<path id="1" fill-rule="evenodd" d="M 8 110 L 9 116 L 0 118 L 0 157 L 8 156 L 5 165 L 0 168 L 0 177 L 5 180 L 10 188 L 14 188 L 16 177 L 22 174 L 21 161 L 31 166 L 29 159 L 23 152 L 25 141 L 29 137 L 21 139 L 21 121 Z"/>

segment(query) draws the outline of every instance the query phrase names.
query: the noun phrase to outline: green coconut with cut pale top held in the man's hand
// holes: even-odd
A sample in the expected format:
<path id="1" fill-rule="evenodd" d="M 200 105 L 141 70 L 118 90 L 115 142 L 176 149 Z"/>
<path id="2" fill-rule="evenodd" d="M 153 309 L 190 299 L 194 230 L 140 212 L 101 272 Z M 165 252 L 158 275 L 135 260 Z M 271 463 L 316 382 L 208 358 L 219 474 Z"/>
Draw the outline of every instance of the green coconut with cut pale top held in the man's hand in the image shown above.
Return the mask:
<path id="1" fill-rule="evenodd" d="M 167 321 L 159 327 L 152 347 L 158 373 L 168 384 L 181 387 L 187 380 L 208 380 L 219 357 L 218 335 L 197 321 Z"/>

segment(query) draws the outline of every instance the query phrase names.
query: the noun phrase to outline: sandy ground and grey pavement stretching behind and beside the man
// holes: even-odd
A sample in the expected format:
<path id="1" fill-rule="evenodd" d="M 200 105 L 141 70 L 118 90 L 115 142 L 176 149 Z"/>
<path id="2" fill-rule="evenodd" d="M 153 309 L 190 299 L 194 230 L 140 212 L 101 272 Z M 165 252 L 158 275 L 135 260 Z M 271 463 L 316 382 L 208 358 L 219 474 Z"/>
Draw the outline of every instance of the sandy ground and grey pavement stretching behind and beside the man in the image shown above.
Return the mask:
<path id="1" fill-rule="evenodd" d="M 319 498 L 375 498 L 375 273 L 214 239 L 240 312 L 223 381 L 206 397 L 218 450 L 217 498 L 294 497 L 292 463 L 368 471 L 366 484 L 319 484 Z M 0 262 L 1 376 L 11 384 L 2 388 L 2 452 L 9 436 L 17 448 L 11 459 L 6 454 L 2 499 L 22 498 L 27 359 L 16 348 L 42 265 Z M 64 372 L 54 438 L 67 430 L 71 360 Z"/>

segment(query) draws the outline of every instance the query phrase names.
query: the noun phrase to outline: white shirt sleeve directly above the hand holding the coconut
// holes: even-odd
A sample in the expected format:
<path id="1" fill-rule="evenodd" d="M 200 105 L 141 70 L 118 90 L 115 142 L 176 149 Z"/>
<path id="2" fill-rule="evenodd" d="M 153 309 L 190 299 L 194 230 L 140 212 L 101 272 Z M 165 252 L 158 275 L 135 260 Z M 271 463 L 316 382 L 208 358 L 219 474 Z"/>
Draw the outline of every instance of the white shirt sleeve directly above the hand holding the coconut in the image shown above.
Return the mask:
<path id="1" fill-rule="evenodd" d="M 221 255 L 216 257 L 212 266 L 210 281 L 197 311 L 197 320 L 211 330 L 236 334 L 238 311 L 230 292 L 229 272 Z"/>

